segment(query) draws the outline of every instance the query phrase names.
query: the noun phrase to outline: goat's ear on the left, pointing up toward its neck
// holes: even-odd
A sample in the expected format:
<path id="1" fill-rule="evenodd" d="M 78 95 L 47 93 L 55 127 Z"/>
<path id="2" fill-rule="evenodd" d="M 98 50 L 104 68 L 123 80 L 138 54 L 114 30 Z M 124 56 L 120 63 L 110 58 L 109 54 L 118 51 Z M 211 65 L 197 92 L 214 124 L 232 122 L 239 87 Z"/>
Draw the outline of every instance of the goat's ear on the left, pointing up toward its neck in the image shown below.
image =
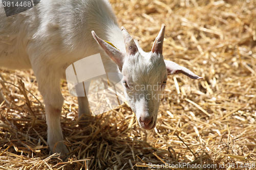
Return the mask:
<path id="1" fill-rule="evenodd" d="M 100 47 L 104 50 L 104 52 L 118 65 L 118 67 L 123 67 L 123 62 L 125 59 L 125 54 L 120 52 L 116 47 L 110 45 L 109 43 L 103 41 L 99 38 L 94 31 L 92 31 L 92 35 L 94 39 L 98 42 Z"/>

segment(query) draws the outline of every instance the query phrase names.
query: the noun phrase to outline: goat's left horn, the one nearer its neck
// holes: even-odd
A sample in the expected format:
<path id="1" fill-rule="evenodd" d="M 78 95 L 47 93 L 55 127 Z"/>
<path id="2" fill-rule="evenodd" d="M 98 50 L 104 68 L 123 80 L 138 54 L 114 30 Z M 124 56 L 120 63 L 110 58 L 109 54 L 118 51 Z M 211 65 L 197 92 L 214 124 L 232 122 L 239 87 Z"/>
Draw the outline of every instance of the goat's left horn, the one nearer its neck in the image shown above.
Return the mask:
<path id="1" fill-rule="evenodd" d="M 133 38 L 131 35 L 127 32 L 127 30 L 124 27 L 121 27 L 123 39 L 125 43 L 125 49 L 127 55 L 135 55 L 138 52 L 138 47 L 135 44 Z"/>

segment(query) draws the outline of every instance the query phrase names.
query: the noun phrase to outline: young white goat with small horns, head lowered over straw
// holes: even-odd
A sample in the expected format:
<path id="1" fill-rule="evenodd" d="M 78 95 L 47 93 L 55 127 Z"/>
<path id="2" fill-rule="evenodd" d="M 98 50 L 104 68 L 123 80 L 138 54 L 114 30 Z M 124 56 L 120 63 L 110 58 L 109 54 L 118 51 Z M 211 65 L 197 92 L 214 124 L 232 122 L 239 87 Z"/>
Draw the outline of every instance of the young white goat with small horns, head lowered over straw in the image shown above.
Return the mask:
<path id="1" fill-rule="evenodd" d="M 75 61 L 100 53 L 105 72 L 120 71 L 125 97 L 143 129 L 156 126 L 160 102 L 152 96 L 163 92 L 167 75 L 181 72 L 201 79 L 187 68 L 163 59 L 164 29 L 152 51 L 145 53 L 123 27 L 119 29 L 107 0 L 41 0 L 30 10 L 10 17 L 0 4 L 0 67 L 33 69 L 45 101 L 50 151 L 65 154 L 69 151 L 59 142 L 63 140 L 59 83 Z M 137 90 L 133 88 L 136 85 L 158 88 Z M 79 116 L 91 114 L 86 97 L 78 97 L 78 105 Z"/>

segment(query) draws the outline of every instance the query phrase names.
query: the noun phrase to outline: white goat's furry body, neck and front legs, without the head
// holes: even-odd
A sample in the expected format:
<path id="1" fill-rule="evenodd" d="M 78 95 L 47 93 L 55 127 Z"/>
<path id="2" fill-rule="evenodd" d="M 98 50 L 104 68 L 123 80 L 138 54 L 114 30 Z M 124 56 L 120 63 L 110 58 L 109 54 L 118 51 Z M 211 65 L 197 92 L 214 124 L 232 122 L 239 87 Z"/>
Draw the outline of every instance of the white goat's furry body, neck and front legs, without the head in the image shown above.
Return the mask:
<path id="1" fill-rule="evenodd" d="M 60 113 L 63 97 L 60 79 L 66 78 L 66 68 L 75 61 L 100 53 L 106 72 L 116 72 L 117 66 L 93 39 L 94 30 L 102 39 L 113 42 L 125 51 L 122 33 L 111 6 L 105 0 L 41 0 L 34 8 L 6 17 L 0 3 L 0 67 L 32 68 L 38 89 L 44 97 L 48 125 L 48 143 L 53 151 L 63 140 Z M 87 99 L 79 98 L 79 114 L 90 114 Z M 68 153 L 57 144 L 55 152 Z"/>

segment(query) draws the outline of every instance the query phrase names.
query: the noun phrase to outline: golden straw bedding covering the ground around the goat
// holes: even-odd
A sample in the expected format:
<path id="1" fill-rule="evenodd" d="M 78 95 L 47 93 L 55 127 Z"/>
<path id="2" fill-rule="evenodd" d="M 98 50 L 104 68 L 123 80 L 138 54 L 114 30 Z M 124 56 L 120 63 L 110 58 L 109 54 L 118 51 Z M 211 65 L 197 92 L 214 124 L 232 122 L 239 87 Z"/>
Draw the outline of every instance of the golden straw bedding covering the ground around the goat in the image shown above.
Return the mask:
<path id="1" fill-rule="evenodd" d="M 127 103 L 79 120 L 77 99 L 62 81 L 61 126 L 71 151 L 63 162 L 49 155 L 33 72 L 1 69 L 3 93 L 13 104 L 0 105 L 0 169 L 148 169 L 164 163 L 190 163 L 173 169 L 256 169 L 256 1 L 111 4 L 120 26 L 146 52 L 164 23 L 165 59 L 204 79 L 168 77 L 153 131 L 139 128 Z"/>

